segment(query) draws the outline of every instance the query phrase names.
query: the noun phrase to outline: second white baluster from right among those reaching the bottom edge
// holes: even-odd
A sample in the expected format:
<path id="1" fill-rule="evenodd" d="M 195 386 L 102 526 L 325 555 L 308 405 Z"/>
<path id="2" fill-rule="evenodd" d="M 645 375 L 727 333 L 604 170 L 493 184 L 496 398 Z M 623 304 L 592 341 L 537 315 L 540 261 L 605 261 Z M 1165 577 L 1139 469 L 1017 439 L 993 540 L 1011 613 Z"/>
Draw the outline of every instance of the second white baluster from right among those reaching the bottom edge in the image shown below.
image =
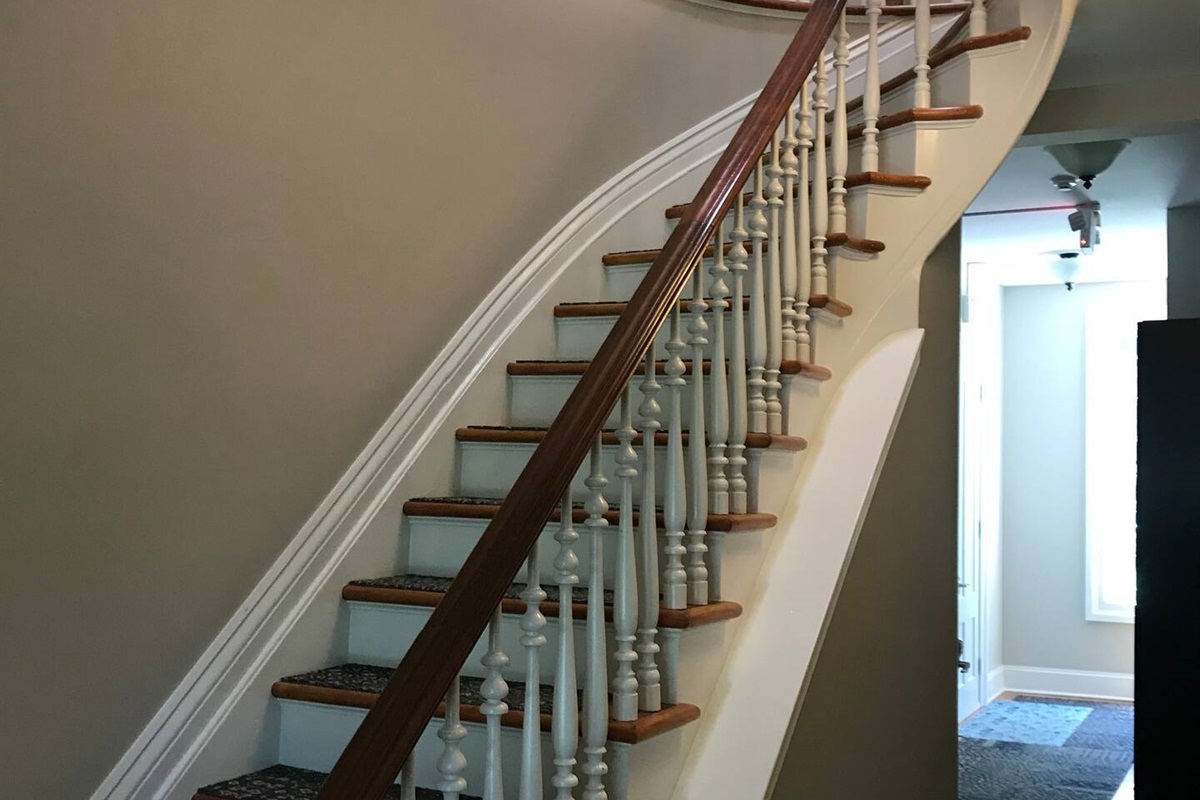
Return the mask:
<path id="1" fill-rule="evenodd" d="M 558 658 L 554 663 L 554 709 L 550 735 L 554 745 L 554 800 L 572 800 L 580 783 L 575 776 L 575 751 L 580 746 L 580 698 L 575 676 L 575 624 L 571 613 L 574 589 L 580 582 L 580 558 L 575 542 L 580 535 L 571 524 L 571 489 L 568 487 L 559 506 L 560 518 L 554 541 L 554 582 L 558 584 Z M 528 700 L 527 700 L 528 702 Z"/>

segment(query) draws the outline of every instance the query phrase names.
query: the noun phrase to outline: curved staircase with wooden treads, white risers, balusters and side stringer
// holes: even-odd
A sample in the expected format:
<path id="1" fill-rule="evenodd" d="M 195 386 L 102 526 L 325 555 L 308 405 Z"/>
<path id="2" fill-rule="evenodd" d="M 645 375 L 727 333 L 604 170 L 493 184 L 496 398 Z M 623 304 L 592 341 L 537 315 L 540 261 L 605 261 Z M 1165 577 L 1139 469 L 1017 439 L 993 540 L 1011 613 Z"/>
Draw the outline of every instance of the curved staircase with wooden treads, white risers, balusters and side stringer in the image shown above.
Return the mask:
<path id="1" fill-rule="evenodd" d="M 1074 7 L 869 0 L 839 13 L 844 1 L 811 4 L 805 29 L 824 14 L 832 38 L 814 38 L 821 58 L 811 54 L 803 88 L 781 101 L 782 121 L 762 133 L 745 187 L 713 200 L 722 207 L 709 210 L 703 251 L 702 241 L 660 270 L 678 255 L 673 236 L 664 249 L 580 267 L 602 270 L 607 296 L 553 307 L 554 360 L 508 365 L 506 413 L 497 398 L 494 417 L 506 425 L 457 429 L 452 489 L 403 504 L 407 570 L 342 588 L 344 662 L 271 686 L 278 764 L 204 786 L 196 800 L 382 796 L 373 787 L 396 770 L 380 760 L 396 758 L 403 769 L 386 796 L 403 800 L 764 796 L 793 703 L 763 711 L 754 698 L 794 702 L 816 652 L 916 367 L 916 345 L 898 349 L 913 341 L 916 278 L 1032 114 Z M 890 55 L 881 58 L 881 41 Z M 685 199 L 658 210 L 666 230 L 702 224 L 703 190 Z M 644 336 L 653 344 L 631 353 L 635 374 L 611 386 L 617 402 L 599 409 L 600 433 L 578 445 L 587 458 L 558 470 L 569 488 L 554 492 L 552 511 L 518 515 L 536 539 L 524 559 L 504 498 L 518 493 L 541 443 L 553 446 L 548 431 L 593 361 L 628 344 L 623 325 L 641 309 L 623 314 L 665 285 L 655 276 L 667 267 L 684 288 L 664 294 Z M 892 383 L 872 366 L 887 359 Z M 874 392 L 878 435 L 856 456 L 854 434 L 871 428 L 852 414 L 864 392 Z M 860 497 L 821 511 L 840 489 L 810 494 L 829 486 L 860 486 Z M 472 600 L 474 587 L 452 579 L 485 558 L 524 560 L 499 576 L 498 606 L 479 589 L 475 630 L 487 633 L 464 663 L 410 663 L 422 646 L 440 652 L 436 640 L 414 643 L 434 609 Z M 468 646 L 476 638 L 430 630 Z M 772 670 L 773 661 L 787 668 Z M 432 675 L 445 668 L 458 676 L 443 692 Z M 373 746 L 368 733 L 347 751 L 373 724 L 367 710 L 397 714 L 398 702 L 380 697 L 406 691 L 433 711 L 406 717 L 412 753 L 355 756 Z M 343 751 L 338 769 L 352 782 L 322 790 Z M 359 784 L 371 790 L 344 788 L 365 770 L 379 772 Z"/>

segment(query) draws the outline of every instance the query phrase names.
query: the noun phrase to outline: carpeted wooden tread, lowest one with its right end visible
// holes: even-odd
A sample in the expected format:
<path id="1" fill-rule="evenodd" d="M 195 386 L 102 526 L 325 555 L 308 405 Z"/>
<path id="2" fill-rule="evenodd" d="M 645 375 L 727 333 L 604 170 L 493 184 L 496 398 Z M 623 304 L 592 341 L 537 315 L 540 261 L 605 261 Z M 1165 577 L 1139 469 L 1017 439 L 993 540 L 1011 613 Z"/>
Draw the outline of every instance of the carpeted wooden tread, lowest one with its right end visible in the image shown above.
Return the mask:
<path id="1" fill-rule="evenodd" d="M 300 675 L 281 678 L 271 687 L 271 694 L 283 699 L 368 709 L 378 699 L 394 672 L 392 667 L 358 663 L 338 664 Z M 458 691 L 462 698 L 461 714 L 466 722 L 487 721 L 480 709 L 484 704 L 482 684 L 484 680 L 481 678 L 469 675 L 462 675 L 458 680 Z M 524 723 L 528 699 L 526 697 L 526 685 L 522 680 L 509 680 L 508 685 L 509 694 L 504 702 L 508 704 L 509 711 L 500 716 L 500 724 L 510 728 L 520 728 Z M 580 690 L 578 697 L 580 708 L 582 708 L 582 690 Z M 539 685 L 538 714 L 541 717 L 542 730 L 550 730 L 553 709 L 553 685 Z M 439 706 L 436 716 L 440 717 L 444 712 L 444 706 Z M 650 736 L 666 733 L 698 718 L 700 709 L 695 705 L 679 703 L 676 705 L 664 705 L 661 711 L 640 711 L 637 717 L 634 722 L 610 720 L 608 739 L 637 744 L 638 741 L 644 741 Z"/>

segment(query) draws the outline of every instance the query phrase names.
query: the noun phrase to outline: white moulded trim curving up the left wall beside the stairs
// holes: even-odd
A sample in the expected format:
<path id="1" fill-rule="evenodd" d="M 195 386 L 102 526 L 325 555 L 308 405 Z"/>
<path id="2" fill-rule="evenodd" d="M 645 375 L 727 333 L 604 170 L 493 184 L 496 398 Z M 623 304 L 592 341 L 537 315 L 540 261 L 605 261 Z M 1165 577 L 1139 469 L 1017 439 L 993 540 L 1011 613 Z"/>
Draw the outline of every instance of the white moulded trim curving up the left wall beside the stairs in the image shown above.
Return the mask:
<path id="1" fill-rule="evenodd" d="M 724 150 L 757 92 L 606 181 L 534 245 L 467 317 L 226 622 L 90 800 L 163 800 L 280 649 L 475 378 L 600 235 Z"/>

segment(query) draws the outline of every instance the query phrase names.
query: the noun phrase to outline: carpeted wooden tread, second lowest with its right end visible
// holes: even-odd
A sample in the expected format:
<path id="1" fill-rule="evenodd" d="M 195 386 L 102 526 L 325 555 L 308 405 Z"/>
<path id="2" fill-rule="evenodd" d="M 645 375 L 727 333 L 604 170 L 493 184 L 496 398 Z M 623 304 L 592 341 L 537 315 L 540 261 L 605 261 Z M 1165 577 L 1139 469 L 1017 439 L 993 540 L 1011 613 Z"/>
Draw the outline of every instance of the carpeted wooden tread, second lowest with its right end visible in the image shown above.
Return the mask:
<path id="1" fill-rule="evenodd" d="M 445 578 L 428 575 L 397 575 L 386 578 L 370 578 L 366 581 L 352 581 L 342 587 L 343 600 L 356 600 L 368 603 L 388 603 L 391 606 L 419 606 L 421 608 L 434 608 L 445 596 L 445 590 L 454 578 Z M 509 584 L 500 601 L 500 608 L 505 614 L 523 614 L 526 603 L 521 600 L 524 590 L 523 583 Z M 546 593 L 546 602 L 541 604 L 541 612 L 546 616 L 558 614 L 558 587 L 542 584 Z M 584 597 L 582 588 L 577 589 L 575 596 Z M 571 614 L 575 619 L 586 619 L 588 606 L 586 602 L 572 602 Z M 659 610 L 659 627 L 689 628 L 701 625 L 712 625 L 728 619 L 737 619 L 742 615 L 742 606 L 730 601 L 718 601 L 707 606 L 688 606 L 686 608 L 661 608 Z M 605 590 L 605 619 L 612 620 L 612 590 Z"/>

